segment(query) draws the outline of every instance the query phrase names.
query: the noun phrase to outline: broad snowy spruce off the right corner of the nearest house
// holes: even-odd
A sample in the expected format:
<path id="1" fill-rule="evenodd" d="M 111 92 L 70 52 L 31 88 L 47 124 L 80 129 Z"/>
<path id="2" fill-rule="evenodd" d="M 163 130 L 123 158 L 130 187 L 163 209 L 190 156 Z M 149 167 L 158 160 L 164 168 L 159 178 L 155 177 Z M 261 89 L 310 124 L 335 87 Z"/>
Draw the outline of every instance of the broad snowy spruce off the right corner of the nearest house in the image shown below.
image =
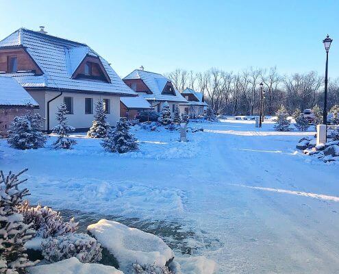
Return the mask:
<path id="1" fill-rule="evenodd" d="M 136 138 L 129 133 L 126 118 L 121 118 L 114 129 L 108 132 L 108 136 L 101 142 L 101 146 L 110 152 L 126 153 L 138 150 Z"/>

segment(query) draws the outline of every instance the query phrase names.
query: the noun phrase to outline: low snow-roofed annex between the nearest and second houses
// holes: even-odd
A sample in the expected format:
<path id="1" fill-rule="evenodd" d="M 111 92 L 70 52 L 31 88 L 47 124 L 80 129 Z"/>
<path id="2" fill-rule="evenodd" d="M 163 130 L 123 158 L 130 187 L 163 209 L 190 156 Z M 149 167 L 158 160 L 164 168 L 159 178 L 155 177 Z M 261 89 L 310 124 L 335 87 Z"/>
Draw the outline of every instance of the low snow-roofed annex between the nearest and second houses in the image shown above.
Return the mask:
<path id="1" fill-rule="evenodd" d="M 127 119 L 134 119 L 138 112 L 143 110 L 153 110 L 151 104 L 143 97 L 121 97 L 120 116 Z"/>

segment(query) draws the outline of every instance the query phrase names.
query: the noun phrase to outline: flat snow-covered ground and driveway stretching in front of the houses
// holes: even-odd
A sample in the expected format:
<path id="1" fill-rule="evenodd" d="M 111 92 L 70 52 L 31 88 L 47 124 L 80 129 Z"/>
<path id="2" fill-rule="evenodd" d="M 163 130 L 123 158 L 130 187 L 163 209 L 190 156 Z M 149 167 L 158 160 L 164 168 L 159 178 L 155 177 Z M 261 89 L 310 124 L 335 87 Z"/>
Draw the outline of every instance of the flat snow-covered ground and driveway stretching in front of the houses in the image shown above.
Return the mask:
<path id="1" fill-rule="evenodd" d="M 16 151 L 0 140 L 0 169 L 29 168 L 32 203 L 179 222 L 194 232 L 185 245 L 215 260 L 217 273 L 336 273 L 339 165 L 294 149 L 312 132 L 253 123 L 197 123 L 205 131 L 187 143 L 136 130 L 140 152 L 125 155 L 83 136 L 72 151 Z"/>

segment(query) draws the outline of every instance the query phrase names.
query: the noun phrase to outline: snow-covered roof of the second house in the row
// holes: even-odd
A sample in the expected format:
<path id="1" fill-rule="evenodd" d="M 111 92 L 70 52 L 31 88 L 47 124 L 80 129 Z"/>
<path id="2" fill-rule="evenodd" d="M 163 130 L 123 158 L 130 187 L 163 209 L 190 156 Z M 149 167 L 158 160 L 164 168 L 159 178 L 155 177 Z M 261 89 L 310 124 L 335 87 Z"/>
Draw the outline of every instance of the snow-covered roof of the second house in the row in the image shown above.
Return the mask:
<path id="1" fill-rule="evenodd" d="M 152 92 L 151 95 L 140 95 L 147 100 L 186 102 L 186 99 L 182 97 L 180 92 L 176 89 L 175 95 L 162 95 L 164 86 L 167 84 L 167 82 L 171 82 L 171 80 L 159 73 L 151 73 L 150 71 L 141 71 L 136 69 L 123 79 L 142 79 L 142 81 Z"/>

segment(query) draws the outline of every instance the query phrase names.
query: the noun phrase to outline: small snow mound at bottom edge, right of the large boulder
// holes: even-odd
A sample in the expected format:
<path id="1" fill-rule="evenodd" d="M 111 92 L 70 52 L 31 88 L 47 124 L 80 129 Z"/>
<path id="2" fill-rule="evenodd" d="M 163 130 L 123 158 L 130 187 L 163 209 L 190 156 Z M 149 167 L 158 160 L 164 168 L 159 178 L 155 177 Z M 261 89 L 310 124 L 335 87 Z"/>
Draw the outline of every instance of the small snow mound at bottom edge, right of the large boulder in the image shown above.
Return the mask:
<path id="1" fill-rule="evenodd" d="M 171 267 L 175 274 L 213 274 L 216 271 L 216 263 L 203 256 L 175 257 Z"/>

